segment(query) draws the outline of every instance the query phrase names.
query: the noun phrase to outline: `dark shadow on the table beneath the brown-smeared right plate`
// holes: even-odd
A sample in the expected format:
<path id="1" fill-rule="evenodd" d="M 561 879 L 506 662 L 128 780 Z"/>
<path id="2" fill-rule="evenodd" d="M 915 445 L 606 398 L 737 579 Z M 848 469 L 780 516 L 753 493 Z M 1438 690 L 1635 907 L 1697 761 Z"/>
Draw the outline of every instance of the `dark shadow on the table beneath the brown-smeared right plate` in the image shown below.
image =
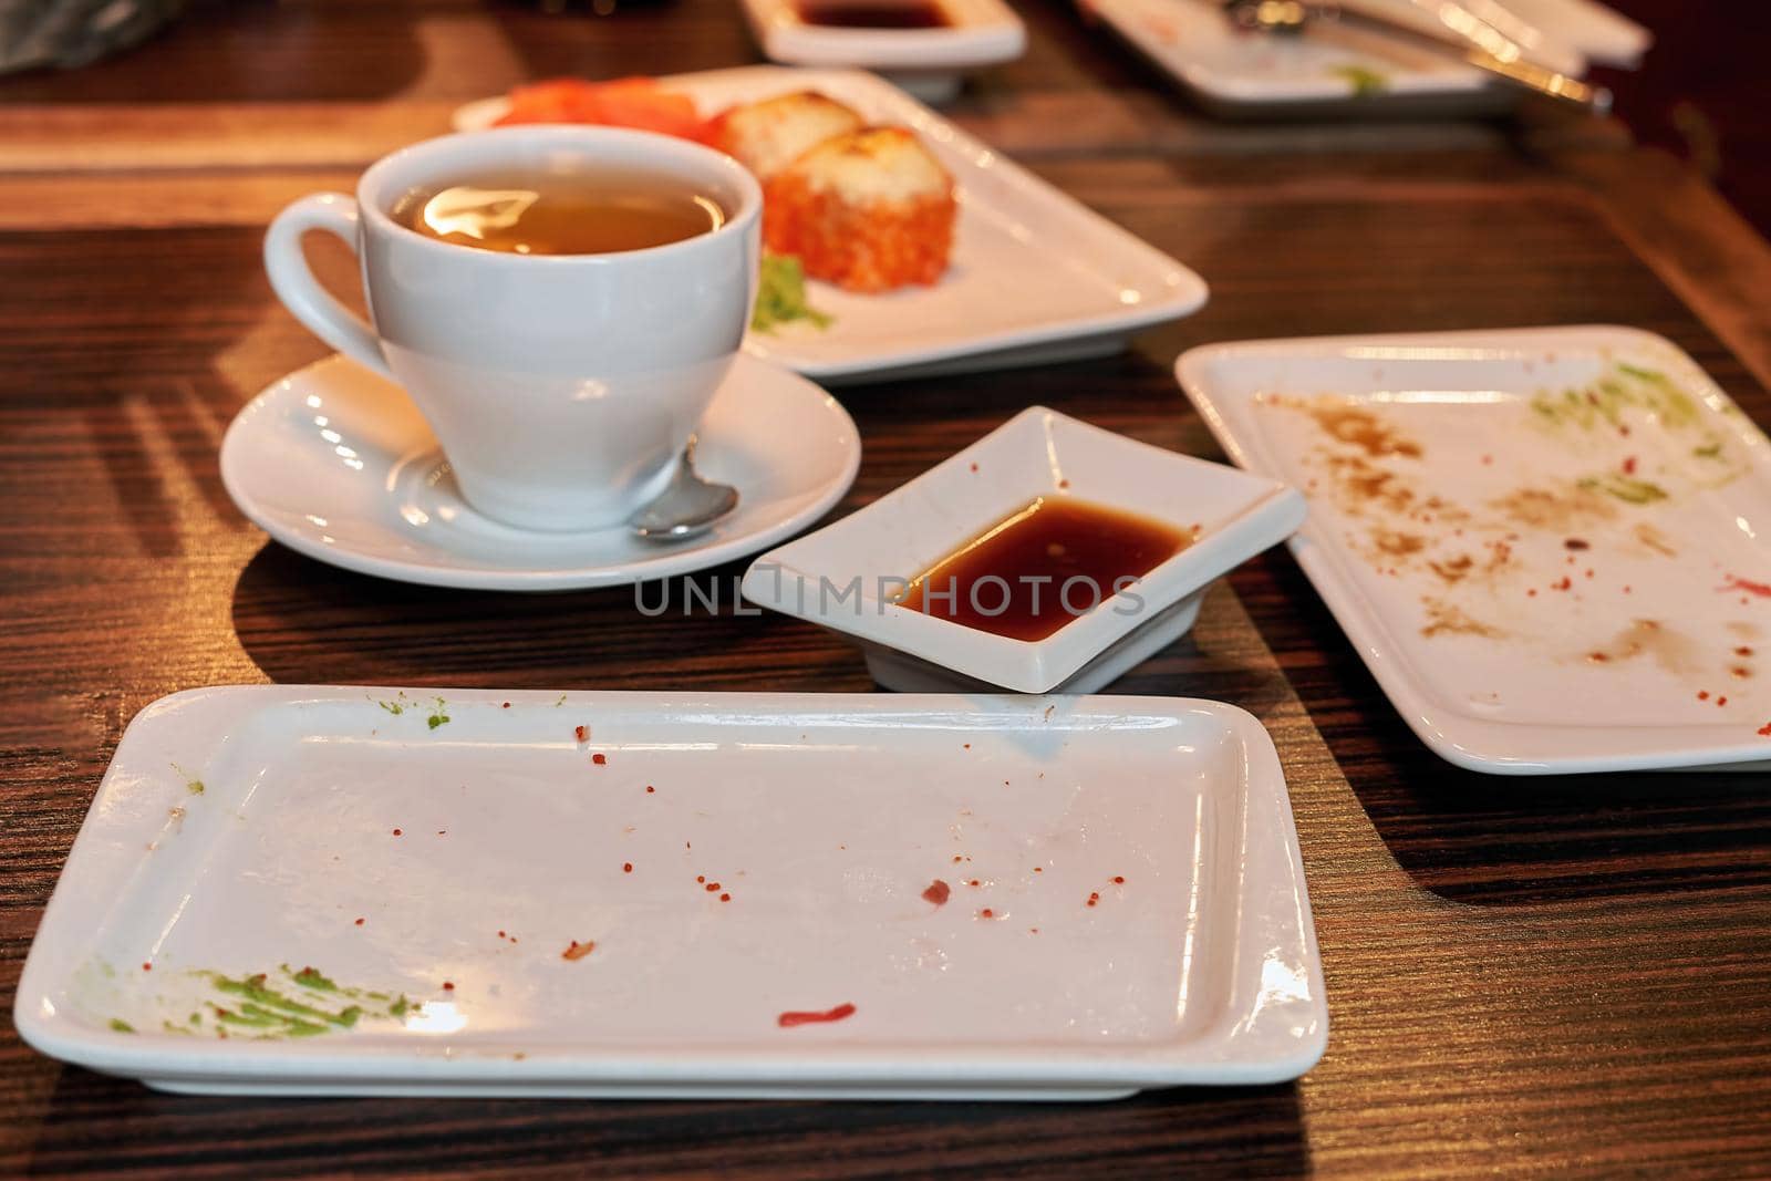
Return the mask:
<path id="1" fill-rule="evenodd" d="M 1422 889 L 1507 907 L 1771 880 L 1764 772 L 1452 767 L 1408 729 L 1288 552 L 1252 563 L 1236 586 L 1383 845 Z"/>

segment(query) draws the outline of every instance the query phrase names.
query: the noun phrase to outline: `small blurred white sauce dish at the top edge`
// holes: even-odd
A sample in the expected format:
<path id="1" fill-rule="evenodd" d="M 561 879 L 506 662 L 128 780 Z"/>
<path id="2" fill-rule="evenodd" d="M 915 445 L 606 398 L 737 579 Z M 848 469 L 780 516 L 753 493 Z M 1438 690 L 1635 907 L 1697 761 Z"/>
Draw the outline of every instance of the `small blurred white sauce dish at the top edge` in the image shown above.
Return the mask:
<path id="1" fill-rule="evenodd" d="M 871 69 L 928 103 L 953 97 L 965 74 L 1013 62 L 1027 28 L 1002 0 L 937 0 L 933 28 L 813 25 L 793 0 L 742 0 L 763 53 L 783 66 Z"/>

